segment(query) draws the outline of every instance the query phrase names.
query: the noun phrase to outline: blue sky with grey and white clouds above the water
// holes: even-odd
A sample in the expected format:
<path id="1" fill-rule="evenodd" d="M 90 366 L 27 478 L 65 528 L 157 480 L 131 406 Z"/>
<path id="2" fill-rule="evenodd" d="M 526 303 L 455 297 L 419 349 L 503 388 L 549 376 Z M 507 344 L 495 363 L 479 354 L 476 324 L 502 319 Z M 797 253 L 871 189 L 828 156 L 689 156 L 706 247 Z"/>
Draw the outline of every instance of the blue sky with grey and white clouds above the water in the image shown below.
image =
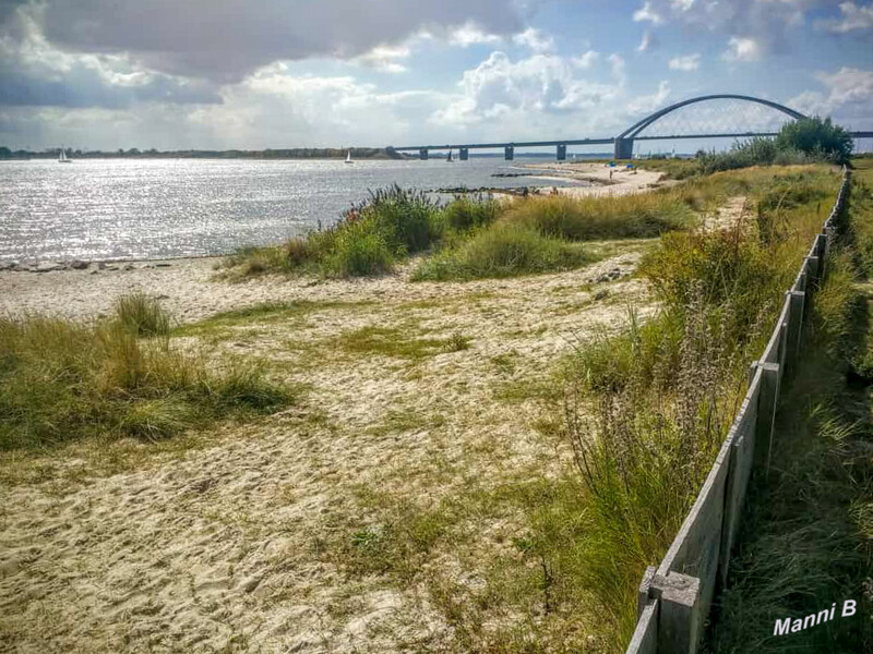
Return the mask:
<path id="1" fill-rule="evenodd" d="M 873 130 L 873 0 L 0 0 L 12 148 L 609 137 L 714 93 Z M 650 133 L 785 120 L 701 102 Z"/>

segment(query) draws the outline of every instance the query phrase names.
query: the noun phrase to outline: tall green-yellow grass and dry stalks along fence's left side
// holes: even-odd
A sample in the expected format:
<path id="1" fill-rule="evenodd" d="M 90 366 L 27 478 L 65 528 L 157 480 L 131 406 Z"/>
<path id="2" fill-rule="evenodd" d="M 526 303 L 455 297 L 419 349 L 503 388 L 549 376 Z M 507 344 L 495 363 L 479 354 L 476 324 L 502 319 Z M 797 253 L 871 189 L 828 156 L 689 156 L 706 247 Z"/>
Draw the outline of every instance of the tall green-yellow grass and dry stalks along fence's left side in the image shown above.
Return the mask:
<path id="1" fill-rule="evenodd" d="M 778 177 L 782 175 L 779 172 Z M 793 174 L 793 177 L 790 177 Z M 751 175 L 751 177 L 750 177 Z M 765 173 L 745 172 L 754 199 Z M 672 233 L 642 272 L 660 313 L 645 325 L 578 347 L 564 362 L 566 433 L 583 486 L 586 535 L 578 570 L 597 597 L 619 652 L 633 631 L 636 589 L 694 500 L 729 427 L 749 362 L 763 349 L 781 294 L 830 208 L 839 178 L 820 168 L 789 173 L 806 202 L 765 206 L 779 229 Z M 723 178 L 711 186 L 737 184 Z"/>

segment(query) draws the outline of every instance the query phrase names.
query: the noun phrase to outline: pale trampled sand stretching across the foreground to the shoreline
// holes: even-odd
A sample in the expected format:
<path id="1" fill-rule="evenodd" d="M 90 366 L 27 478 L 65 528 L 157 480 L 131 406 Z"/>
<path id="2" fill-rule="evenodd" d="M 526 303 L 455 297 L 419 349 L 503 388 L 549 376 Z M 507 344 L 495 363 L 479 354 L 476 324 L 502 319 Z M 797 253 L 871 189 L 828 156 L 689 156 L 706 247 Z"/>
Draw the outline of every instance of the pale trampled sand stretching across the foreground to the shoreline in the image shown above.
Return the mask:
<path id="1" fill-rule="evenodd" d="M 557 445 L 533 426 L 536 401 L 501 393 L 524 392 L 578 338 L 618 325 L 627 304 L 645 305 L 644 283 L 626 277 L 637 261 L 622 254 L 571 272 L 471 283 L 408 283 L 407 269 L 229 284 L 208 281 L 208 259 L 0 274 L 8 311 L 89 316 L 132 288 L 165 296 L 186 319 L 264 301 L 316 303 L 296 322 L 239 326 L 214 344 L 217 356 L 265 355 L 277 374 L 309 384 L 288 411 L 222 427 L 181 453 L 83 444 L 0 459 L 0 474 L 24 467 L 31 475 L 0 488 L 0 651 L 457 651 L 424 580 L 455 584 L 455 594 L 486 584 L 491 561 L 517 556 L 511 512 L 476 513 L 469 543 L 441 541 L 415 583 L 349 576 L 344 547 L 381 529 L 397 502 L 427 511 L 444 497 L 554 474 Z M 597 282 L 606 277 L 617 281 Z M 318 304 L 328 301 L 349 305 Z M 336 344 L 361 327 L 410 339 L 462 332 L 470 347 L 409 361 Z M 133 464 L 107 476 L 105 459 L 119 457 Z M 387 498 L 387 508 L 367 497 Z M 492 638 L 506 620 L 526 619 L 486 618 Z"/>

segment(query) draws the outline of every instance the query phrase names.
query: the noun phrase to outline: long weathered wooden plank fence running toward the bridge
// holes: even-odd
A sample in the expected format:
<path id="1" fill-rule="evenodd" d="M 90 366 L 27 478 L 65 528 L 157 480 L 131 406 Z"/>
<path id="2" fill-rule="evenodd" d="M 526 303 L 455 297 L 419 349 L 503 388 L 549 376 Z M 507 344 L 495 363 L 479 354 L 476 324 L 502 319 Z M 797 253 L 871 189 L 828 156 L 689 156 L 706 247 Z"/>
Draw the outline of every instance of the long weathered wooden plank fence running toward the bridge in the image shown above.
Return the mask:
<path id="1" fill-rule="evenodd" d="M 697 652 L 716 588 L 727 582 L 749 477 L 753 469 L 769 467 L 780 385 L 797 362 L 849 183 L 850 173 L 844 168 L 830 216 L 785 293 L 779 319 L 761 359 L 752 364 L 749 391 L 713 469 L 660 566 L 650 566 L 643 576 L 627 654 Z"/>

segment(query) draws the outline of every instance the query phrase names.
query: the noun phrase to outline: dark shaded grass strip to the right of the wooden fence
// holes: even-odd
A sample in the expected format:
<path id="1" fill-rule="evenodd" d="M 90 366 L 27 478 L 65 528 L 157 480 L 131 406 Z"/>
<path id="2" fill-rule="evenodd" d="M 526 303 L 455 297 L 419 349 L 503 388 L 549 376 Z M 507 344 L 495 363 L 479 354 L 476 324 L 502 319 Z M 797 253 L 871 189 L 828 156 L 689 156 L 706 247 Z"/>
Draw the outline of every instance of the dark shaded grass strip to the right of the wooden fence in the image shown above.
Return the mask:
<path id="1" fill-rule="evenodd" d="M 777 415 L 774 461 L 750 487 L 749 512 L 707 638 L 708 652 L 866 652 L 873 647 L 873 377 L 858 374 L 871 340 L 870 194 L 856 181 L 813 303 L 798 374 Z M 854 374 L 853 374 L 854 373 Z M 854 618 L 774 637 L 776 620 L 846 600 Z M 839 610 L 837 609 L 839 615 Z"/>

